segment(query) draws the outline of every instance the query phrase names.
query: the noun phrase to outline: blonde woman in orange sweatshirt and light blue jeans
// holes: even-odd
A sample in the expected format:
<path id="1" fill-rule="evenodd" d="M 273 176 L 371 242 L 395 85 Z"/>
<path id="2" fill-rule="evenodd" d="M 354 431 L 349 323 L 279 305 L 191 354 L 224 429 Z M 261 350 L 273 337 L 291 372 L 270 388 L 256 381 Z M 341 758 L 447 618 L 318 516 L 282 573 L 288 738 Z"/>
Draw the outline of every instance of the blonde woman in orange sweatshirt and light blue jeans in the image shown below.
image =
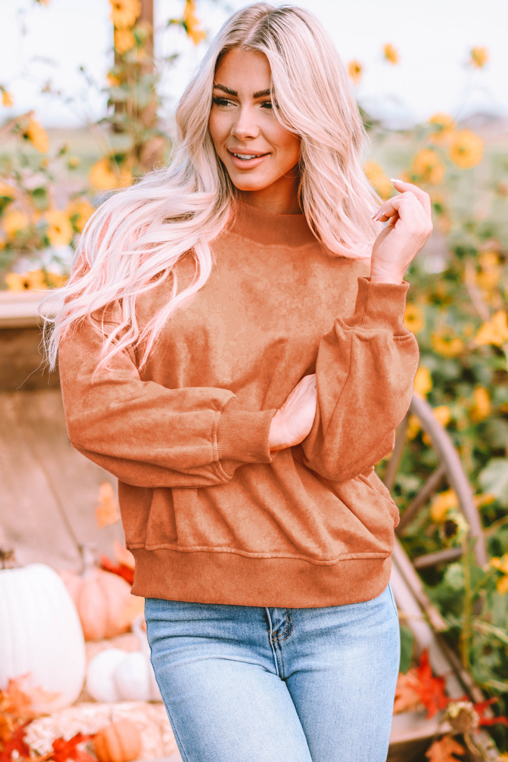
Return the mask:
<path id="1" fill-rule="evenodd" d="M 395 181 L 378 208 L 343 65 L 301 8 L 226 21 L 177 126 L 53 297 L 69 440 L 118 477 L 183 759 L 381 762 L 398 511 L 374 466 L 411 402 L 404 273 L 430 200 Z"/>

